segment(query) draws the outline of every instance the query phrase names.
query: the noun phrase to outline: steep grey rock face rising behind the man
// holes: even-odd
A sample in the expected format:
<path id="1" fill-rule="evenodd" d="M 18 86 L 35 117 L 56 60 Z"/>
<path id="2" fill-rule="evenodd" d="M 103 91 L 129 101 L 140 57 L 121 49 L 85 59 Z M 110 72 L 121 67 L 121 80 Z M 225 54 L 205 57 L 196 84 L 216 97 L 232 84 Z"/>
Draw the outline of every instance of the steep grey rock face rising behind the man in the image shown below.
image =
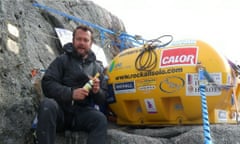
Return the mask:
<path id="1" fill-rule="evenodd" d="M 73 30 L 81 24 L 33 7 L 32 2 L 0 1 L 0 144 L 31 143 L 31 123 L 41 100 L 41 92 L 31 81 L 31 70 L 47 68 L 60 54 L 54 27 Z M 120 19 L 91 1 L 37 2 L 108 29 L 125 31 Z M 96 30 L 94 37 L 100 45 Z M 111 59 L 112 50 L 104 50 Z"/>

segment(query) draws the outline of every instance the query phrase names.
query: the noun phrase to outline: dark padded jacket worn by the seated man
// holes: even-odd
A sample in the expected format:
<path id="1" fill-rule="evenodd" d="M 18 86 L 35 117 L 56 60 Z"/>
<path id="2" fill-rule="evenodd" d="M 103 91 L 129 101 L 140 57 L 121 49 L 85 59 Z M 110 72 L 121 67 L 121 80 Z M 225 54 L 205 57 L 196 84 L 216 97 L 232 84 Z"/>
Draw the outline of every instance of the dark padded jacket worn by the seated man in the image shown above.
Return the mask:
<path id="1" fill-rule="evenodd" d="M 71 111 L 73 90 L 83 87 L 89 81 L 89 76 L 93 77 L 100 72 L 100 91 L 97 94 L 90 91 L 89 96 L 84 100 L 74 101 L 74 106 L 104 104 L 107 86 L 103 79 L 103 67 L 96 61 L 95 54 L 90 51 L 88 57 L 83 60 L 73 48 L 72 43 L 64 45 L 63 49 L 65 53 L 50 64 L 42 79 L 44 95 L 55 99 L 64 111 Z"/>

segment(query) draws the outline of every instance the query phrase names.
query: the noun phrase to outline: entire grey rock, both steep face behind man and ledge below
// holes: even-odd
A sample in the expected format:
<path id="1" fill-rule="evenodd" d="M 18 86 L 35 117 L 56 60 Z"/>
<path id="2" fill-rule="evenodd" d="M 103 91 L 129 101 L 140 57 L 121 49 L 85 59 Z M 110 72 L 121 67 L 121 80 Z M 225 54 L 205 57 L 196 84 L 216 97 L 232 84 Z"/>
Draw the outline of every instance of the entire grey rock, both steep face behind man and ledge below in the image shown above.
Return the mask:
<path id="1" fill-rule="evenodd" d="M 54 27 L 73 30 L 76 23 L 32 6 L 33 0 L 0 1 L 0 144 L 32 144 L 31 123 L 42 98 L 39 83 L 31 70 L 45 69 L 61 53 Z M 107 10 L 86 0 L 37 0 L 83 20 L 125 31 L 122 21 Z M 101 45 L 95 30 L 96 43 Z M 109 39 L 114 36 L 107 35 Z M 111 60 L 119 50 L 106 40 L 103 49 Z M 239 125 L 211 125 L 215 144 L 240 144 Z M 86 143 L 84 132 L 57 135 L 57 144 Z M 109 144 L 202 144 L 202 126 L 125 127 L 109 123 Z"/>

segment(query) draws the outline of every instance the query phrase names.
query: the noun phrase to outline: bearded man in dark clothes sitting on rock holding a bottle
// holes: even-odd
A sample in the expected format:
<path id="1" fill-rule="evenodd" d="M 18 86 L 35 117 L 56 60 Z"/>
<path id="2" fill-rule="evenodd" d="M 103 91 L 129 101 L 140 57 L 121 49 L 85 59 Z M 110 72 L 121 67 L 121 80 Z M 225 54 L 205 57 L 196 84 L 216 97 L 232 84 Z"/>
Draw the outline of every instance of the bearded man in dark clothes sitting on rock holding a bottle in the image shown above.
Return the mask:
<path id="1" fill-rule="evenodd" d="M 91 51 L 92 43 L 92 30 L 78 26 L 72 43 L 64 46 L 65 53 L 48 67 L 42 79 L 42 90 L 47 98 L 39 108 L 39 144 L 54 144 L 56 131 L 66 129 L 88 132 L 88 144 L 106 143 L 106 117 L 92 106 L 104 104 L 106 94 L 102 68 Z M 92 78 L 97 72 L 100 78 Z M 93 79 L 93 86 L 88 91 L 83 86 L 90 79 Z"/>

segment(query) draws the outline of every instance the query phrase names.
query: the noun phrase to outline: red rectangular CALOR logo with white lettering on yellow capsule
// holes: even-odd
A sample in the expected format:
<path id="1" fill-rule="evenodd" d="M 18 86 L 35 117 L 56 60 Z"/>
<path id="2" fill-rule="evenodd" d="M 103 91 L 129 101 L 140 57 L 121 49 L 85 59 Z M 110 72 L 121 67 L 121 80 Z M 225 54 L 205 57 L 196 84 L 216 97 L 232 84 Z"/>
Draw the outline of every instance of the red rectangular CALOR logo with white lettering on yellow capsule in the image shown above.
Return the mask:
<path id="1" fill-rule="evenodd" d="M 160 67 L 195 65 L 197 63 L 197 47 L 180 47 L 162 50 Z"/>

